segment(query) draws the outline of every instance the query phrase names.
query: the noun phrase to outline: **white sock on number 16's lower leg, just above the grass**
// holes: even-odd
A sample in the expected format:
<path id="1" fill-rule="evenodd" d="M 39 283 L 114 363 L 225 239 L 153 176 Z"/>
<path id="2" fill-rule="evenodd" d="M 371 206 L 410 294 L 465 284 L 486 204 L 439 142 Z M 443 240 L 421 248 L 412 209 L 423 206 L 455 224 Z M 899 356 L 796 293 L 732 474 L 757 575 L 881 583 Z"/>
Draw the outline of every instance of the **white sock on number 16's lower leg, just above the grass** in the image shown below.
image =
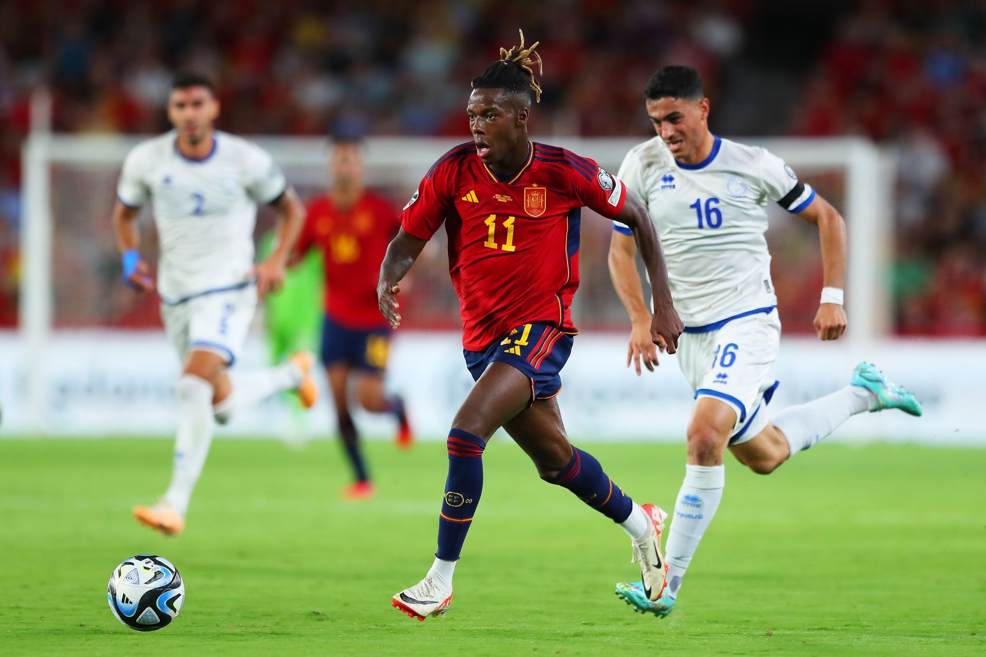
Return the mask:
<path id="1" fill-rule="evenodd" d="M 674 502 L 674 519 L 668 533 L 668 592 L 677 597 L 681 578 L 698 549 L 702 534 L 719 508 L 726 486 L 726 466 L 686 465 L 684 482 Z"/>

